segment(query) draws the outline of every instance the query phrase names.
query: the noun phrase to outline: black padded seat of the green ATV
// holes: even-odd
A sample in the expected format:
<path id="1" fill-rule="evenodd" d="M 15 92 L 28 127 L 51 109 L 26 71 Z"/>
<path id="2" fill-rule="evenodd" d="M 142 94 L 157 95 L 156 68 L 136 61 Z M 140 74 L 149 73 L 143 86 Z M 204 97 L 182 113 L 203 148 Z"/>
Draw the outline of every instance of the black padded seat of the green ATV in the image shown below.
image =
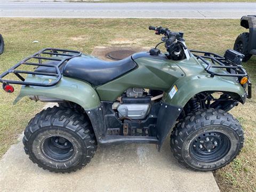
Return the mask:
<path id="1" fill-rule="evenodd" d="M 135 67 L 136 64 L 131 57 L 119 61 L 103 61 L 97 58 L 75 57 L 67 62 L 62 74 L 97 86 L 122 76 Z"/>

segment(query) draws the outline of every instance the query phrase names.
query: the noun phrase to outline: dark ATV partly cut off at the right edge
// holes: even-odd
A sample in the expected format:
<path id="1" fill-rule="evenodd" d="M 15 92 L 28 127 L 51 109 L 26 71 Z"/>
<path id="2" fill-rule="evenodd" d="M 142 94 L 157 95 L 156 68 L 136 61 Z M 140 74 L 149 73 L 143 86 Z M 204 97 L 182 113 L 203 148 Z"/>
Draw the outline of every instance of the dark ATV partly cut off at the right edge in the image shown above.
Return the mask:
<path id="1" fill-rule="evenodd" d="M 234 50 L 245 55 L 243 61 L 248 61 L 252 55 L 256 55 L 256 15 L 246 15 L 241 18 L 241 26 L 249 29 L 249 33 L 238 35 L 234 44 Z"/>

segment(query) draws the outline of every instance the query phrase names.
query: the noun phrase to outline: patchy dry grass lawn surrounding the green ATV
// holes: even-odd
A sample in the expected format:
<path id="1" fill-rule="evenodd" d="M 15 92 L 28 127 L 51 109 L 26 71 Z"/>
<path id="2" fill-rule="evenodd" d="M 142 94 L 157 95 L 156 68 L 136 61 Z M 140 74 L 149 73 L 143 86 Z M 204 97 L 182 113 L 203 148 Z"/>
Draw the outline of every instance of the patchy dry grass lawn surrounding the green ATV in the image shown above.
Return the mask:
<path id="1" fill-rule="evenodd" d="M 1 34 L 5 52 L 0 55 L 0 71 L 44 47 L 62 47 L 91 53 L 94 46 L 134 45 L 154 46 L 160 36 L 148 30 L 149 25 L 162 25 L 174 31 L 183 31 L 190 49 L 223 54 L 233 47 L 236 36 L 244 31 L 239 20 L 195 19 L 3 19 Z M 39 43 L 32 43 L 33 41 Z M 164 49 L 163 49 L 164 50 Z M 256 83 L 256 57 L 244 64 L 253 85 Z M 41 110 L 43 103 L 23 99 L 18 105 L 12 94 L 0 91 L 0 157 L 25 129 L 29 119 Z M 230 113 L 242 123 L 245 147 L 235 161 L 214 172 L 221 191 L 256 190 L 256 99 L 239 105 Z M 167 151 L 171 153 L 171 151 Z"/>

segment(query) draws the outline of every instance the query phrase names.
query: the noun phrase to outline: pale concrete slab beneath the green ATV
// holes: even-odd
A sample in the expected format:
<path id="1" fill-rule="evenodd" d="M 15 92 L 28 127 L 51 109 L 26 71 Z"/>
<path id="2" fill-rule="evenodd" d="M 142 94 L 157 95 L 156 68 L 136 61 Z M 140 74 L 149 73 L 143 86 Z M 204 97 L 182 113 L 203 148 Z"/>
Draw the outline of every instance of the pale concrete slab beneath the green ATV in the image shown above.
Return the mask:
<path id="1" fill-rule="evenodd" d="M 33 164 L 19 142 L 0 160 L 0 191 L 219 191 L 211 172 L 195 172 L 173 158 L 169 139 L 155 145 L 99 147 L 84 169 L 70 174 Z"/>

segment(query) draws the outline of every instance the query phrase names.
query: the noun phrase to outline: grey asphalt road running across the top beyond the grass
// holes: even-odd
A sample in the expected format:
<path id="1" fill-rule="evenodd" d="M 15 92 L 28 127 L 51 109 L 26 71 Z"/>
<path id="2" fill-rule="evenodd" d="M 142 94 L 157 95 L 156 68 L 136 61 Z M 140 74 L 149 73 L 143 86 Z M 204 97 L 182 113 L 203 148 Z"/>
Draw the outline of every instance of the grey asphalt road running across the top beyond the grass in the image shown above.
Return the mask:
<path id="1" fill-rule="evenodd" d="M 256 14 L 256 3 L 0 3 L 0 17 L 238 19 L 246 14 Z"/>

